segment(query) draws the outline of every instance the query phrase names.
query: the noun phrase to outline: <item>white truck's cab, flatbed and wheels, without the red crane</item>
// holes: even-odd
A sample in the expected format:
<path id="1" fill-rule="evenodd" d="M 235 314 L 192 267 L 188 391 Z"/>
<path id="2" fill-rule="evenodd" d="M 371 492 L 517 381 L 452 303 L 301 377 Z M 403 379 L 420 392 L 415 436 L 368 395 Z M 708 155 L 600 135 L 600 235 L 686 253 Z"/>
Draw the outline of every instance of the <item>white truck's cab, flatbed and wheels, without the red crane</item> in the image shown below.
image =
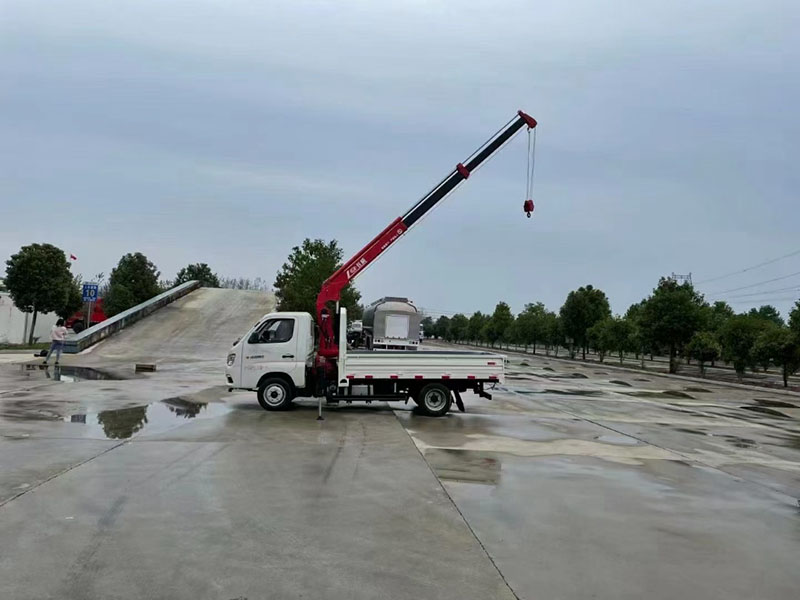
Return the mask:
<path id="1" fill-rule="evenodd" d="M 346 335 L 341 309 L 340 338 Z M 348 350 L 339 345 L 336 380 L 328 385 L 315 368 L 314 320 L 308 313 L 264 315 L 231 348 L 226 377 L 232 389 L 255 390 L 266 410 L 283 410 L 298 396 L 324 396 L 328 404 L 409 399 L 431 416 L 442 416 L 461 392 L 491 398 L 486 386 L 504 381 L 500 354 L 489 352 Z"/>

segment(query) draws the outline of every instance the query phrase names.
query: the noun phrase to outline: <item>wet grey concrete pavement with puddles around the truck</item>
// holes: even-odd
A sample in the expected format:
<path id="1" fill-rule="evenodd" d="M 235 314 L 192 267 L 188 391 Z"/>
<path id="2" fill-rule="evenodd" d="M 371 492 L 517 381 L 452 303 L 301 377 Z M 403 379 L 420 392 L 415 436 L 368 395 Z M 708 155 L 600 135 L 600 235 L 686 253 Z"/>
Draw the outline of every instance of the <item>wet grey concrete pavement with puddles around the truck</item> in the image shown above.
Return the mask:
<path id="1" fill-rule="evenodd" d="M 2 597 L 797 597 L 800 396 L 512 356 L 465 414 L 317 421 L 144 337 L 0 368 Z"/>

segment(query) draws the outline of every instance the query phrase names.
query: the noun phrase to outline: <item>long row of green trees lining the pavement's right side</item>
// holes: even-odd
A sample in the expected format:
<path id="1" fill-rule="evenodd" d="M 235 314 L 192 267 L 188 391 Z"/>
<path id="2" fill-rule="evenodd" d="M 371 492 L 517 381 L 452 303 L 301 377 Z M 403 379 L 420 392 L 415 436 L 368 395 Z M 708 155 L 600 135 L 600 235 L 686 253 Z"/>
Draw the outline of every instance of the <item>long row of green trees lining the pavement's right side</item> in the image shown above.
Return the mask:
<path id="1" fill-rule="evenodd" d="M 499 302 L 491 315 L 426 317 L 423 327 L 426 337 L 492 347 L 514 344 L 526 351 L 532 346 L 534 353 L 543 346 L 556 356 L 566 347 L 572 358 L 580 352 L 584 360 L 591 349 L 601 362 L 609 354 L 620 363 L 626 353 L 642 361 L 645 355 L 664 354 L 670 373 L 678 371 L 680 357 L 696 360 L 703 375 L 709 363 L 732 363 L 740 379 L 748 368 L 774 365 L 782 370 L 784 386 L 800 368 L 800 300 L 787 325 L 773 306 L 737 314 L 727 302 L 709 303 L 690 283 L 669 277 L 624 315 L 613 316 L 606 294 L 587 285 L 569 292 L 557 313 L 536 302 L 515 316 Z"/>

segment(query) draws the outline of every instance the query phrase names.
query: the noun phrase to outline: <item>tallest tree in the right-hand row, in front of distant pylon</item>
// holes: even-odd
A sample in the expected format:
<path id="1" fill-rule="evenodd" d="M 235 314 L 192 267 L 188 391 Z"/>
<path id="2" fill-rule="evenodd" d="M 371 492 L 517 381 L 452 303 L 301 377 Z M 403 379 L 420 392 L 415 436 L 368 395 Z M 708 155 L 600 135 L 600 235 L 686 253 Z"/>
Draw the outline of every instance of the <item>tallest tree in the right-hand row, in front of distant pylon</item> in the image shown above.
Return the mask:
<path id="1" fill-rule="evenodd" d="M 688 282 L 679 284 L 662 277 L 658 287 L 645 300 L 639 319 L 651 343 L 669 348 L 669 372 L 675 373 L 677 351 L 702 328 L 707 316 L 706 304 Z"/>

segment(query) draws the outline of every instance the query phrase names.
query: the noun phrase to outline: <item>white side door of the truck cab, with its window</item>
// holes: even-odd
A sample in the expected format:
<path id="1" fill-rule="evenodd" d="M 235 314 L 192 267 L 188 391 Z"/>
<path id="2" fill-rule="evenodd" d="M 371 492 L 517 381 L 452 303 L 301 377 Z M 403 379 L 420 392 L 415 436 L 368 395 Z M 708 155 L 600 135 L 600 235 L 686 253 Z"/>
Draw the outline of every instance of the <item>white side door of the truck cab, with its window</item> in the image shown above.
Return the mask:
<path id="1" fill-rule="evenodd" d="M 296 387 L 305 386 L 306 357 L 298 355 L 297 319 L 275 317 L 250 334 L 244 346 L 242 386 L 255 388 L 266 373 L 286 373 Z"/>

